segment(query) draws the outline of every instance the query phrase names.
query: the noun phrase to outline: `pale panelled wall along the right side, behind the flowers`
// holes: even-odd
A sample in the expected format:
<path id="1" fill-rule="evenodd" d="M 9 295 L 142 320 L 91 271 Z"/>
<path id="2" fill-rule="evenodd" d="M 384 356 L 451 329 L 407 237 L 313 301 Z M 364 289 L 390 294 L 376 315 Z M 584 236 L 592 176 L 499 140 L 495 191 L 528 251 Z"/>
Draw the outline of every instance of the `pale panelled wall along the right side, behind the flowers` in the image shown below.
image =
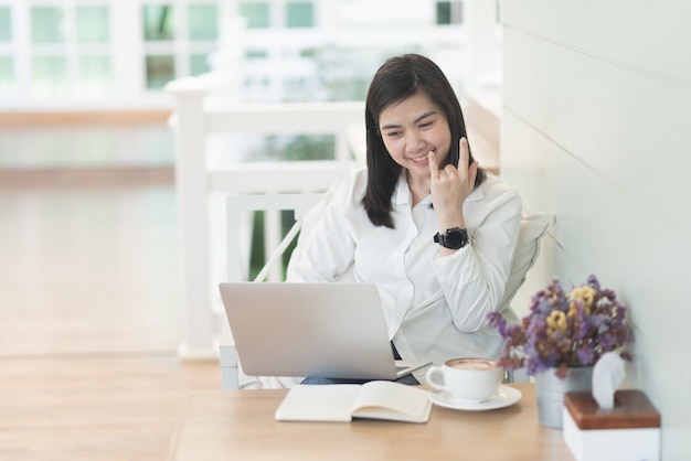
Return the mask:
<path id="1" fill-rule="evenodd" d="M 617 291 L 626 385 L 660 411 L 663 459 L 689 460 L 691 2 L 510 0 L 502 22 L 502 175 L 557 218 L 524 292 L 588 274 Z"/>

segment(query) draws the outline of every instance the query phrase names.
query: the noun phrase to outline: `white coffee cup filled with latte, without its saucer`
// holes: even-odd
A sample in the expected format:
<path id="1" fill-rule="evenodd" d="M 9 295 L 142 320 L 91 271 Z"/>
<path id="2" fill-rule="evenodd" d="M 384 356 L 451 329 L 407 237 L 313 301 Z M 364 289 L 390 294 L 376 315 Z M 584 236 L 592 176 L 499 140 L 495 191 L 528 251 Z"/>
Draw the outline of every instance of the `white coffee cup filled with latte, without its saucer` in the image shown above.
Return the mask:
<path id="1" fill-rule="evenodd" d="M 432 388 L 448 390 L 469 403 L 487 400 L 499 390 L 502 379 L 503 369 L 488 358 L 450 358 L 427 369 L 427 384 Z"/>

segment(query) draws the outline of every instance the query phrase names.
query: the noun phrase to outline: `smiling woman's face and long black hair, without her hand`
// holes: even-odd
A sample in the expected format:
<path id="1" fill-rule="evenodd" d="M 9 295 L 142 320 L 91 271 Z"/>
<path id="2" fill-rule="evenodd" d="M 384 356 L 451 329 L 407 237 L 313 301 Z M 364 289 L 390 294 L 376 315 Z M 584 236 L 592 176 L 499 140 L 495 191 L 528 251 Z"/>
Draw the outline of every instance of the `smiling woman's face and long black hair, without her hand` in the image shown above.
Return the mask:
<path id="1" fill-rule="evenodd" d="M 401 168 L 406 169 L 398 161 L 412 157 L 424 164 L 421 157 L 432 151 L 442 152 L 437 157 L 437 163 L 442 167 L 458 167 L 460 140 L 468 137 L 466 124 L 456 94 L 439 66 L 417 54 L 391 58 L 378 71 L 368 92 L 366 107 L 369 183 L 364 204 L 373 223 L 391 227 L 390 207 L 386 204 Z M 385 127 L 390 130 L 386 131 Z M 412 135 L 406 138 L 403 128 L 407 128 Z M 394 140 L 401 142 L 394 143 Z M 474 158 L 469 144 L 467 147 L 467 164 L 471 167 Z M 406 169 L 414 200 L 428 193 L 426 176 L 429 176 L 429 171 L 424 167 L 419 169 L 423 164 L 418 162 L 418 169 Z M 415 167 L 415 163 L 411 167 Z M 460 173 L 464 171 L 461 169 Z M 475 186 L 485 179 L 483 170 L 477 171 Z M 416 180 L 422 181 L 422 184 Z M 380 208 L 382 205 L 383 208 Z"/>

